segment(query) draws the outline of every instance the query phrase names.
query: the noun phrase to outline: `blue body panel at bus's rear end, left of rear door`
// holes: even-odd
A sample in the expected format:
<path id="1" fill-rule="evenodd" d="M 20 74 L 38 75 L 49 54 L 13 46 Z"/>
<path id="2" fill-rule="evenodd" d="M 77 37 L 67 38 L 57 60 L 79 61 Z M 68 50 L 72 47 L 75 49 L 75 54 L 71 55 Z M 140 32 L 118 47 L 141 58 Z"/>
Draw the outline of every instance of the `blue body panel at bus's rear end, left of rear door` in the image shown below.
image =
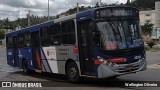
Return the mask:
<path id="1" fill-rule="evenodd" d="M 7 63 L 8 63 L 8 65 L 14 66 L 13 50 L 12 49 L 7 49 Z"/>

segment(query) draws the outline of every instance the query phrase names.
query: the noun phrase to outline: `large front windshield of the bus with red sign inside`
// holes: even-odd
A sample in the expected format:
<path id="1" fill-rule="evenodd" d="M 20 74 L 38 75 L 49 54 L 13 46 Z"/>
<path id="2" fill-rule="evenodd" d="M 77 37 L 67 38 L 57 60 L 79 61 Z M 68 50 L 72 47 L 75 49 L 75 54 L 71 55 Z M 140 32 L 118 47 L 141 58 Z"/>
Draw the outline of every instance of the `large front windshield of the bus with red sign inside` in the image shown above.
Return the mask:
<path id="1" fill-rule="evenodd" d="M 97 22 L 100 49 L 117 50 L 140 47 L 143 40 L 138 20 Z"/>

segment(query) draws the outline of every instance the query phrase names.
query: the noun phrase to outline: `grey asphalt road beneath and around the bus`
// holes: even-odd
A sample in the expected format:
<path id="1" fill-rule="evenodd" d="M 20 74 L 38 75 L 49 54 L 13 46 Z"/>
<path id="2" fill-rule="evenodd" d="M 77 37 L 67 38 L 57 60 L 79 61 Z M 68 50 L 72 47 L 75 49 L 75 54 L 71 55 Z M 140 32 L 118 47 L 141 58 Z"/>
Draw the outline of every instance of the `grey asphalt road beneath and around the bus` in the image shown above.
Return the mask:
<path id="1" fill-rule="evenodd" d="M 148 69 L 143 72 L 120 76 L 116 79 L 84 79 L 80 84 L 69 83 L 63 75 L 34 73 L 25 75 L 22 70 L 6 63 L 5 48 L 0 48 L 0 81 L 47 81 L 53 87 L 47 88 L 13 88 L 39 90 L 160 90 L 160 87 L 113 87 L 114 81 L 160 81 L 160 52 L 147 52 Z M 112 81 L 112 83 L 109 83 Z M 1 88 L 0 88 L 1 89 Z M 10 89 L 10 88 L 3 88 Z"/>

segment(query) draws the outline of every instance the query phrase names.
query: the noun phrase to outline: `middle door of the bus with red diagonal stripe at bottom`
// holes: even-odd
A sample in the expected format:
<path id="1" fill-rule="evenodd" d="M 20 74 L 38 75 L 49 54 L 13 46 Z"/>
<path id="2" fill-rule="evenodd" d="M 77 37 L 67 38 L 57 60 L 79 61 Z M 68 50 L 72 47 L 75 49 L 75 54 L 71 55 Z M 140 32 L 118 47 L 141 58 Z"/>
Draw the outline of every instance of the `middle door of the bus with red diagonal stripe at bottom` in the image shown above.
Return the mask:
<path id="1" fill-rule="evenodd" d="M 34 69 L 41 70 L 39 32 L 31 32 L 32 60 Z"/>

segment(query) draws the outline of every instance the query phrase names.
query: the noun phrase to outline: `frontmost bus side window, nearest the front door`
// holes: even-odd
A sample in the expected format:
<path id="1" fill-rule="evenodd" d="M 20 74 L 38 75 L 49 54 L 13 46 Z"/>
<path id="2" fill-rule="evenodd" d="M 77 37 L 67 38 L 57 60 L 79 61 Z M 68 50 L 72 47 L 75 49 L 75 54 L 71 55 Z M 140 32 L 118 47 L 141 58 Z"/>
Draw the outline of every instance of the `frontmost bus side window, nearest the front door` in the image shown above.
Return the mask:
<path id="1" fill-rule="evenodd" d="M 75 24 L 73 20 L 62 23 L 62 44 L 75 44 Z"/>

